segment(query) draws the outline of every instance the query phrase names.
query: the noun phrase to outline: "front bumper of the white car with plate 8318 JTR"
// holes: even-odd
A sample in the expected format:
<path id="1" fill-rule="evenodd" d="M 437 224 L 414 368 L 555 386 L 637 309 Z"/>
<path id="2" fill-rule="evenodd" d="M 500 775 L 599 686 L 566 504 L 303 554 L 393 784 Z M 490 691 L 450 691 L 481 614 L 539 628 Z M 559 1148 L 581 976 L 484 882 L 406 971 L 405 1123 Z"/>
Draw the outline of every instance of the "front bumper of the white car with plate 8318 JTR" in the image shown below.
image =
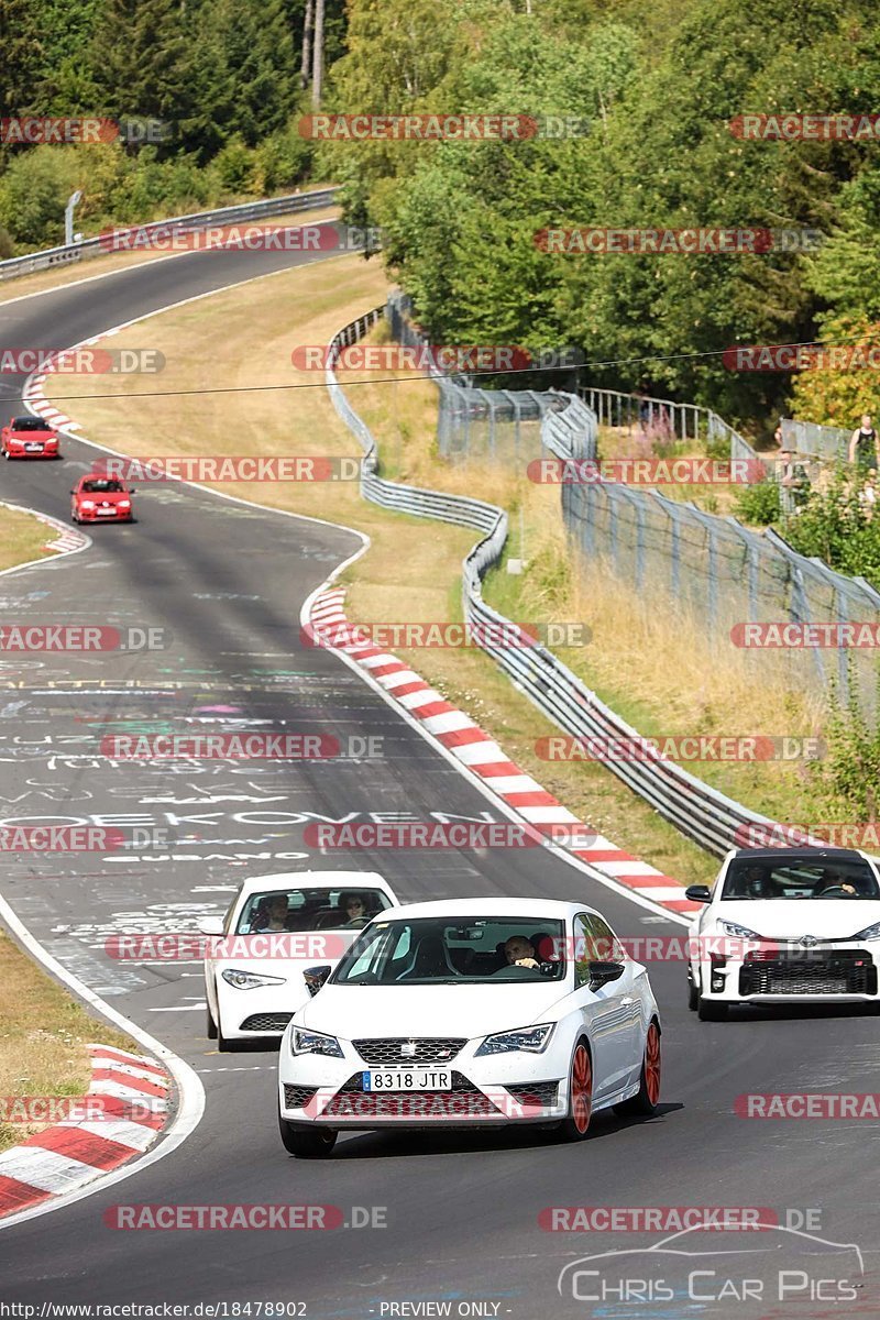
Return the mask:
<path id="1" fill-rule="evenodd" d="M 451 1090 L 364 1092 L 361 1072 L 369 1068 L 350 1041 L 344 1059 L 292 1055 L 289 1035 L 281 1043 L 278 1106 L 292 1123 L 346 1129 L 486 1127 L 508 1123 L 550 1123 L 567 1114 L 567 1059 L 551 1051 L 530 1055 L 474 1057 L 479 1041 L 468 1041 L 449 1063 Z"/>

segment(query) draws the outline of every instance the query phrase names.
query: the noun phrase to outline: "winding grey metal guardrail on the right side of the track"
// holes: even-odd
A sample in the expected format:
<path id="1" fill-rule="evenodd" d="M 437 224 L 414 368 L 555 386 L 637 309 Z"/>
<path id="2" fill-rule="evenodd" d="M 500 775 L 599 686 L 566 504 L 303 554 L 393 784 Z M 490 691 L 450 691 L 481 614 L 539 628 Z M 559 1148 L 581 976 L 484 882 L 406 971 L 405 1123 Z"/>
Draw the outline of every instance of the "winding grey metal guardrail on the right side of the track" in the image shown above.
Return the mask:
<path id="1" fill-rule="evenodd" d="M 497 564 L 507 540 L 507 515 L 495 504 L 445 495 L 439 491 L 420 490 L 384 480 L 379 475 L 376 442 L 363 418 L 354 411 L 342 385 L 336 380 L 334 363 L 339 350 L 355 343 L 381 318 L 383 309 L 359 317 L 347 325 L 330 345 L 326 374 L 327 388 L 334 408 L 358 437 L 364 450 L 360 488 L 365 499 L 384 508 L 437 517 L 445 523 L 474 527 L 486 535 L 463 562 L 462 597 L 464 618 L 471 624 L 492 624 L 495 635 L 500 628 L 515 627 L 509 619 L 493 610 L 483 599 L 482 579 Z M 491 630 L 489 630 L 491 635 Z M 478 632 L 478 638 L 480 634 Z M 545 647 L 492 647 L 480 643 L 549 719 L 575 738 L 639 739 L 640 734 L 602 702 L 557 656 Z M 718 857 L 738 846 L 738 832 L 749 825 L 772 826 L 767 816 L 749 812 L 745 807 L 710 788 L 689 775 L 678 764 L 661 759 L 610 762 L 608 768 L 633 792 L 649 803 L 660 816 L 701 847 Z"/>

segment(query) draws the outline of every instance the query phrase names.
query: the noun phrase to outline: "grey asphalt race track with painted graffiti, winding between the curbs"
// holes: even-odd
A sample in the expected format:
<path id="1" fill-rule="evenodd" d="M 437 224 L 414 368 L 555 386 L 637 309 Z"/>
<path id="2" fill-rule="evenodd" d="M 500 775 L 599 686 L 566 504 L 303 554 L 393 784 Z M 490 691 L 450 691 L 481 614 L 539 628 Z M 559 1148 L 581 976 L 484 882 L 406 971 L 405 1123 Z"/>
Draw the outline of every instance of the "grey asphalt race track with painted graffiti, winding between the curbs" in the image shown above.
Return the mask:
<path id="1" fill-rule="evenodd" d="M 70 345 L 299 260 L 309 257 L 191 255 L 38 294 L 0 306 L 0 347 Z M 20 380 L 3 384 L 4 397 L 20 392 Z M 0 407 L 4 414 L 13 411 Z M 92 454 L 67 442 L 63 462 L 4 465 L 0 498 L 65 519 L 69 487 Z M 166 630 L 168 645 L 129 655 L 0 657 L 0 810 L 30 822 L 113 817 L 168 833 L 135 854 L 4 858 L 0 892 L 66 968 L 197 1069 L 207 1107 L 197 1131 L 166 1159 L 1 1230 L 1 1303 L 165 1302 L 189 1304 L 193 1315 L 197 1303 L 223 1302 L 227 1311 L 216 1313 L 245 1315 L 248 1302 L 285 1302 L 301 1303 L 297 1313 L 310 1317 L 519 1320 L 880 1312 L 877 1126 L 759 1122 L 734 1113 L 735 1097 L 747 1092 L 871 1092 L 877 1019 L 848 1010 L 768 1011 L 701 1024 L 686 1011 L 678 962 L 652 965 L 665 1027 L 664 1107 L 656 1119 L 598 1115 L 591 1139 L 577 1147 L 534 1130 L 358 1134 L 340 1139 L 331 1160 L 289 1159 L 276 1129 L 273 1053 L 218 1055 L 203 1035 L 199 966 L 113 961 L 104 953 L 110 935 L 191 927 L 222 911 L 247 874 L 352 861 L 384 871 L 404 899 L 582 896 L 621 935 L 682 928 L 533 849 L 354 859 L 309 853 L 302 829 L 315 814 L 504 818 L 340 660 L 299 644 L 301 603 L 358 549 L 351 532 L 182 486 L 144 486 L 135 525 L 90 532 L 91 549 L 0 578 L 4 622 L 154 626 Z M 240 726 L 332 734 L 343 743 L 381 738 L 383 755 L 203 762 L 179 772 L 95 756 L 104 733 Z M 387 1226 L 227 1234 L 104 1225 L 108 1206 L 146 1203 L 336 1205 L 350 1225 L 363 1218 L 352 1206 L 381 1206 Z M 644 1300 L 606 1292 L 591 1302 L 583 1299 L 596 1296 L 594 1276 L 579 1275 L 574 1291 L 566 1276 L 557 1291 L 566 1265 L 644 1249 L 666 1234 L 548 1233 L 538 1225 L 544 1208 L 574 1205 L 767 1206 L 780 1222 L 789 1209 L 811 1208 L 819 1220 L 810 1238 L 782 1230 L 698 1234 L 670 1246 L 707 1253 L 699 1258 L 654 1253 L 603 1261 L 606 1276 L 625 1269 L 640 1282 Z M 864 1275 L 852 1253 L 818 1238 L 856 1243 Z M 707 1272 L 689 1292 L 690 1269 Z M 803 1271 L 790 1300 L 778 1300 L 780 1270 Z M 752 1280 L 748 1300 L 743 1279 Z M 856 1282 L 855 1300 L 833 1300 L 840 1290 L 819 1279 Z M 722 1292 L 723 1300 L 711 1300 Z"/>

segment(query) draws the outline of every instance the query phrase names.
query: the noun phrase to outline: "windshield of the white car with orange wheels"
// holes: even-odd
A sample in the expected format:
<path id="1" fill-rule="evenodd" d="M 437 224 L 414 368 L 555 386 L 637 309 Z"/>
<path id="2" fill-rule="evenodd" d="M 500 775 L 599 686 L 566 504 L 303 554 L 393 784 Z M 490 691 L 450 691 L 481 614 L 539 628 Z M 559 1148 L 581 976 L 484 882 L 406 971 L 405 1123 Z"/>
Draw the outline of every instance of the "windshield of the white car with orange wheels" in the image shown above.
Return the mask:
<path id="1" fill-rule="evenodd" d="M 379 920 L 331 979 L 359 986 L 561 981 L 563 933 L 562 921 L 540 916 Z"/>

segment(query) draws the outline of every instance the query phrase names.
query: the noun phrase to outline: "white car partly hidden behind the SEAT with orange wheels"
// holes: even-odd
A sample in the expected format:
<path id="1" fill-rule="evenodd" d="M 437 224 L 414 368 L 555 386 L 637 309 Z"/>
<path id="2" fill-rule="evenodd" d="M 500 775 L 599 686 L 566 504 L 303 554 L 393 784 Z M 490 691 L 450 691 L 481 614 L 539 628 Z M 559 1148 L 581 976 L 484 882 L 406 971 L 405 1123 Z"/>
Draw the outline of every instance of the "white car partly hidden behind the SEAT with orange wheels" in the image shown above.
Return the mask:
<path id="1" fill-rule="evenodd" d="M 377 912 L 397 898 L 373 871 L 290 871 L 245 880 L 226 917 L 206 917 L 218 936 L 204 954 L 207 1036 L 218 1049 L 277 1040 L 309 998 L 303 972 L 335 965 Z"/>

